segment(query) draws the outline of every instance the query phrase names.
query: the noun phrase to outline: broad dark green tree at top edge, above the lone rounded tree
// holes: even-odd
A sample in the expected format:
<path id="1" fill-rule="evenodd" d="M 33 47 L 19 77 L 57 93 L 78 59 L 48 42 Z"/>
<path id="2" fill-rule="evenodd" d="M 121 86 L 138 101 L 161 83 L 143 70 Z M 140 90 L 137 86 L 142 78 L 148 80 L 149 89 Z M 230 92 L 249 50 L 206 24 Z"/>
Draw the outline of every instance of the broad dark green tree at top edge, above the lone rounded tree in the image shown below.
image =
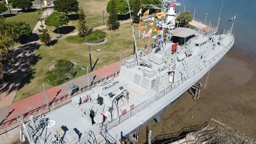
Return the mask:
<path id="1" fill-rule="evenodd" d="M 54 10 L 68 15 L 71 12 L 77 13 L 79 11 L 77 0 L 54 0 Z"/>

